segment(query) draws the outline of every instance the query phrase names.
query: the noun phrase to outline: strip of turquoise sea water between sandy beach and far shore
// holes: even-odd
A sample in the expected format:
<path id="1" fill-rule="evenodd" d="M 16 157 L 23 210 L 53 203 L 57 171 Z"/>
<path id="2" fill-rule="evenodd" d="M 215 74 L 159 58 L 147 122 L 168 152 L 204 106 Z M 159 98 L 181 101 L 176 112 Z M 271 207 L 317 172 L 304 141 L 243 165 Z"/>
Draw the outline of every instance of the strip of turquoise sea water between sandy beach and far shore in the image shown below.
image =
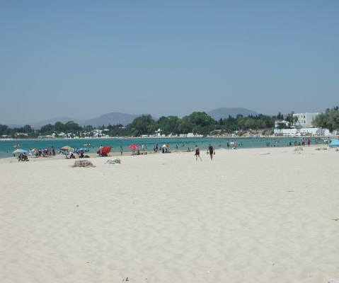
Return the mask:
<path id="1" fill-rule="evenodd" d="M 169 149 L 176 149 L 186 151 L 188 148 L 194 149 L 195 144 L 200 149 L 206 149 L 209 144 L 212 144 L 215 149 L 227 148 L 227 143 L 231 141 L 237 141 L 239 149 L 241 148 L 259 148 L 266 147 L 269 142 L 272 146 L 287 146 L 289 141 L 294 145 L 294 141 L 301 141 L 301 138 L 276 138 L 276 137 L 251 137 L 251 138 L 146 138 L 146 139 L 16 139 L 16 140 L 0 140 L 0 158 L 13 156 L 15 149 L 45 149 L 54 146 L 54 149 L 58 151 L 62 146 L 71 146 L 74 149 L 86 147 L 90 153 L 96 153 L 99 146 L 113 146 L 113 152 L 120 152 L 120 146 L 123 151 L 131 151 L 127 146 L 130 144 L 144 144 L 147 147 L 147 151 L 152 151 L 155 144 L 159 144 L 159 149 L 163 144 L 168 144 Z M 316 143 L 316 139 L 311 139 L 311 144 Z M 19 147 L 14 147 L 16 144 L 20 144 Z M 84 144 L 91 144 L 90 146 L 84 146 Z"/>

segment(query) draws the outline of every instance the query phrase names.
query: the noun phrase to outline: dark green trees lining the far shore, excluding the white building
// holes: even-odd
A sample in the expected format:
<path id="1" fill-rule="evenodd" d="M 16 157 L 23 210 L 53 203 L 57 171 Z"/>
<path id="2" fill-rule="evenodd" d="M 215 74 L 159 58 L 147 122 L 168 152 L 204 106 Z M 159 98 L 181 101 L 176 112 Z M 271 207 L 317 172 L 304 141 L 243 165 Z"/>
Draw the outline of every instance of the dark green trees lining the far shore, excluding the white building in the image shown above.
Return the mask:
<path id="1" fill-rule="evenodd" d="M 214 120 L 207 115 L 206 112 L 193 112 L 190 115 L 182 118 L 177 116 L 162 116 L 155 120 L 151 115 L 142 115 L 133 120 L 130 125 L 123 127 L 122 125 L 108 125 L 96 127 L 98 129 L 107 129 L 105 134 L 110 137 L 139 137 L 142 134 L 154 134 L 159 132 L 161 134 L 187 134 L 193 132 L 194 134 L 210 134 L 211 132 L 232 133 L 236 131 L 248 130 L 263 130 L 272 129 L 275 120 L 284 119 L 283 115 L 279 112 L 278 115 L 250 115 L 243 117 L 237 115 L 236 117 L 227 117 Z M 294 124 L 292 115 L 287 115 L 285 120 Z M 338 106 L 332 109 L 327 109 L 326 112 L 318 115 L 314 121 L 316 127 L 339 129 L 339 108 Z M 56 122 L 54 125 L 48 124 L 41 127 L 39 130 L 34 130 L 30 125 L 24 127 L 10 128 L 6 125 L 0 125 L 1 137 L 38 137 L 46 136 L 52 133 L 71 133 L 78 136 L 91 137 L 93 135 L 92 126 L 81 127 L 76 122 L 69 121 L 66 123 Z"/>

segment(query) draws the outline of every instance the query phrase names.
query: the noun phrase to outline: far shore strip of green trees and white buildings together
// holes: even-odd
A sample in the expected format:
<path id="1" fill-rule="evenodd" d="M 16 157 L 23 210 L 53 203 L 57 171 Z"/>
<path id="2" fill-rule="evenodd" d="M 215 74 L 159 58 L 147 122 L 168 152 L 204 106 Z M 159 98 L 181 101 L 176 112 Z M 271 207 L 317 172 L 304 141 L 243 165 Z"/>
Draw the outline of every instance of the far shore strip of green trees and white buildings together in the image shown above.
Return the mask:
<path id="1" fill-rule="evenodd" d="M 113 137 L 333 137 L 339 133 L 338 107 L 325 113 L 304 112 L 276 116 L 257 115 L 214 120 L 206 112 L 193 112 L 179 118 L 141 115 L 129 125 L 92 125 L 81 127 L 73 121 L 56 122 L 33 129 L 30 125 L 10 128 L 0 125 L 1 139 L 62 139 Z M 326 119 L 328 122 L 326 122 Z M 331 122 L 334 121 L 334 122 Z"/>

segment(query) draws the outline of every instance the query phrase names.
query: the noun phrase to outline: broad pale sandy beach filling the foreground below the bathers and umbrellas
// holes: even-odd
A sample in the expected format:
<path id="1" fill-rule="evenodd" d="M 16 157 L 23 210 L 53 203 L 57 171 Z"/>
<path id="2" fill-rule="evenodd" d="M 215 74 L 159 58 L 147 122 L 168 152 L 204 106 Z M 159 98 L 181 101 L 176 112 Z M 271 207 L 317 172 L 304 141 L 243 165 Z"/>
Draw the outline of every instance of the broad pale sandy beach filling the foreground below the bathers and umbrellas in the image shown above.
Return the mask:
<path id="1" fill-rule="evenodd" d="M 3 159 L 0 282 L 338 278 L 339 152 L 293 149 Z"/>

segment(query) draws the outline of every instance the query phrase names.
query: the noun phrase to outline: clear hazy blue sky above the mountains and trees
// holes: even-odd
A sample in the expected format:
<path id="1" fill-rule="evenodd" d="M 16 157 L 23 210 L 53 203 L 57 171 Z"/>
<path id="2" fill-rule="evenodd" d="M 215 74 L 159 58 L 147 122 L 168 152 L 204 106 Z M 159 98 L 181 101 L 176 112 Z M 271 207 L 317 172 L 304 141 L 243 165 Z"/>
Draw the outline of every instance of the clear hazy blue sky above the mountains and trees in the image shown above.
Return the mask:
<path id="1" fill-rule="evenodd" d="M 339 104 L 339 1 L 0 1 L 0 123 Z"/>

